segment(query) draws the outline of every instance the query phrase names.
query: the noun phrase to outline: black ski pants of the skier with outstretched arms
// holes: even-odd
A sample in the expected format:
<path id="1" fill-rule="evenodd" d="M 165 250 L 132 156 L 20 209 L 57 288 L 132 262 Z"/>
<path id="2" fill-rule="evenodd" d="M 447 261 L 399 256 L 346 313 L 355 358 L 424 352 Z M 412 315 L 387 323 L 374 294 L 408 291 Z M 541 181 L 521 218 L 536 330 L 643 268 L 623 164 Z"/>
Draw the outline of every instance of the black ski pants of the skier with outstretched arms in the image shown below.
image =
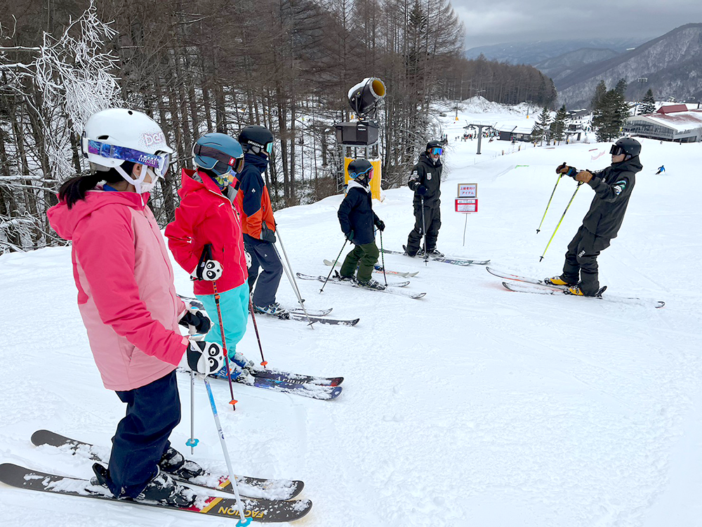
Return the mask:
<path id="1" fill-rule="evenodd" d="M 579 281 L 583 294 L 594 297 L 600 290 L 597 256 L 600 256 L 600 252 L 607 247 L 609 247 L 609 238 L 595 236 L 584 225 L 581 226 L 568 244 L 562 280 L 569 284 L 576 284 Z"/>

